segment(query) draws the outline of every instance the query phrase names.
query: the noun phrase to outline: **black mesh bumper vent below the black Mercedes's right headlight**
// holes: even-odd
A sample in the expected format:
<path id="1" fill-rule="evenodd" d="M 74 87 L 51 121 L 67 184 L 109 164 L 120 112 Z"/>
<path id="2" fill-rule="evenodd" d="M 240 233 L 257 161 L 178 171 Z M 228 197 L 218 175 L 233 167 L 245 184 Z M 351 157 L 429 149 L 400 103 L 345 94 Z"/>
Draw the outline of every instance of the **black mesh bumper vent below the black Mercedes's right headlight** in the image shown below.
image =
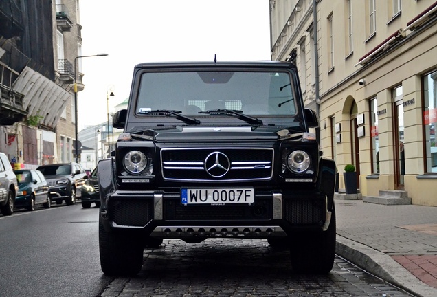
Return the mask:
<path id="1" fill-rule="evenodd" d="M 325 206 L 323 201 L 312 199 L 286 199 L 285 219 L 293 225 L 322 225 Z"/>

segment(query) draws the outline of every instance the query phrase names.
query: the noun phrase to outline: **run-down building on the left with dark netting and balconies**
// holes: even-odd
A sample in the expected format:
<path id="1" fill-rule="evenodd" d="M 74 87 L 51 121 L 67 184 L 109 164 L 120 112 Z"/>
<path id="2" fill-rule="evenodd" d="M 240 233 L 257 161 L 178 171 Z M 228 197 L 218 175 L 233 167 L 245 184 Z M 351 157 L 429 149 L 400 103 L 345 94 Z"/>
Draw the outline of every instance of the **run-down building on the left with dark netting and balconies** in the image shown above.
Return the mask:
<path id="1" fill-rule="evenodd" d="M 0 0 L 0 150 L 18 168 L 74 159 L 78 3 Z"/>

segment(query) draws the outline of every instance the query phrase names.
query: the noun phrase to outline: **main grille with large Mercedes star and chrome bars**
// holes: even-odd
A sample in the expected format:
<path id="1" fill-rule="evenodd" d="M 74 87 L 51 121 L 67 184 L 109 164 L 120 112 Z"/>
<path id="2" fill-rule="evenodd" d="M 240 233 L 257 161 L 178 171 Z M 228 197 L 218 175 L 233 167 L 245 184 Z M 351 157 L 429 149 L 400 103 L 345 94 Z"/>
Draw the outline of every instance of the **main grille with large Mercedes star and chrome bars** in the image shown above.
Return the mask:
<path id="1" fill-rule="evenodd" d="M 174 181 L 256 181 L 273 175 L 273 148 L 163 148 L 162 176 Z"/>

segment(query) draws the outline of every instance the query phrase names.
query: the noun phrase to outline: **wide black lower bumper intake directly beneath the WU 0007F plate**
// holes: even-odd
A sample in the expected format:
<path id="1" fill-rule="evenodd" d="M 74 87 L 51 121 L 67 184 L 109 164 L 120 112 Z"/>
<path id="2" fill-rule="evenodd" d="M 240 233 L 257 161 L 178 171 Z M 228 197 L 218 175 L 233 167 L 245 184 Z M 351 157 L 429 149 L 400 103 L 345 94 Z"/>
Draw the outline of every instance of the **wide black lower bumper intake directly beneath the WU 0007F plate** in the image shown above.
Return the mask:
<path id="1" fill-rule="evenodd" d="M 208 220 L 264 220 L 271 219 L 271 201 L 260 200 L 254 205 L 234 204 L 224 206 L 183 206 L 177 201 L 164 202 L 166 221 L 208 221 Z"/>

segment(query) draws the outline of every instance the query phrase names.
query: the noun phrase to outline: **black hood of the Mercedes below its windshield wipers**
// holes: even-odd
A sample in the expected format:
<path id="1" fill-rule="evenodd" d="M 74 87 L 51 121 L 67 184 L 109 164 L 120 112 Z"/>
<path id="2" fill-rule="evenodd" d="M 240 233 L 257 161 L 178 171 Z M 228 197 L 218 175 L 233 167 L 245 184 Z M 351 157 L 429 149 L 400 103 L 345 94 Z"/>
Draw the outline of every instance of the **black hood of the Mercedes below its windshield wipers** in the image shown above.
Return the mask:
<path id="1" fill-rule="evenodd" d="M 131 132 L 132 137 L 159 141 L 195 140 L 279 140 L 302 137 L 299 126 L 161 126 Z"/>

